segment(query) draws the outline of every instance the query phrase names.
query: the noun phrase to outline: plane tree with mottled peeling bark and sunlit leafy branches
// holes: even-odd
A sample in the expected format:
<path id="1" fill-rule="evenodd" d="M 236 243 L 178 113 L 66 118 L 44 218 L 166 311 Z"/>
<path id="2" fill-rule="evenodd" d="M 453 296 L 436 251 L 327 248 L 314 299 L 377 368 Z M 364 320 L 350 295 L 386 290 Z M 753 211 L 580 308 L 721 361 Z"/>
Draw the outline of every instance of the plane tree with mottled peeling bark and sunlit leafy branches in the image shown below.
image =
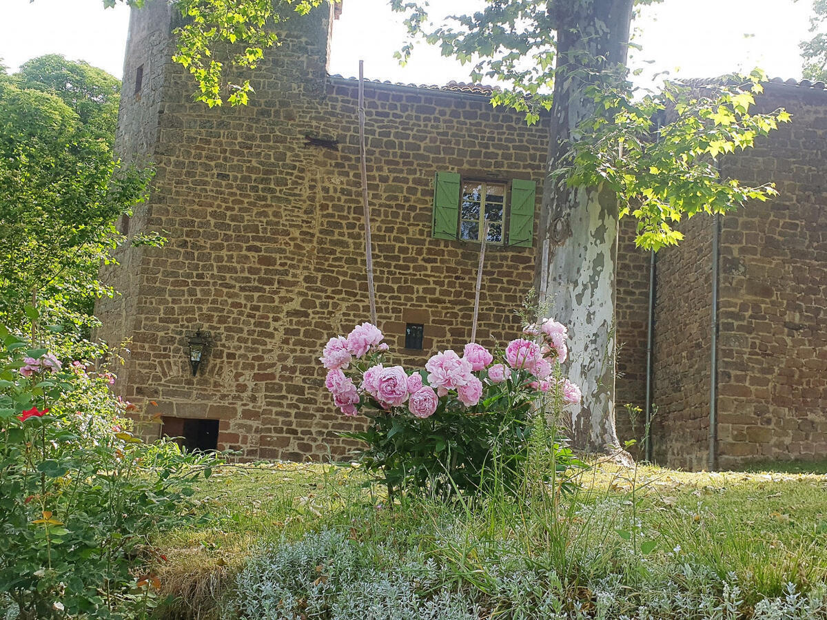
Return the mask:
<path id="1" fill-rule="evenodd" d="M 651 0 L 636 2 L 648 4 Z M 672 223 L 725 212 L 772 185 L 720 179 L 719 155 L 753 145 L 785 112 L 751 115 L 762 75 L 692 89 L 667 83 L 640 97 L 626 68 L 633 0 L 487 0 L 473 15 L 431 26 L 427 4 L 391 0 L 412 36 L 443 55 L 474 61 L 472 77 L 502 79 L 495 95 L 538 119 L 550 111 L 547 179 L 536 285 L 571 335 L 571 379 L 583 405 L 572 415 L 576 446 L 619 445 L 614 427 L 614 272 L 619 217 L 638 219 L 638 246 L 680 240 Z M 411 43 L 400 52 L 406 60 Z M 700 92 L 699 92 L 700 91 Z"/>

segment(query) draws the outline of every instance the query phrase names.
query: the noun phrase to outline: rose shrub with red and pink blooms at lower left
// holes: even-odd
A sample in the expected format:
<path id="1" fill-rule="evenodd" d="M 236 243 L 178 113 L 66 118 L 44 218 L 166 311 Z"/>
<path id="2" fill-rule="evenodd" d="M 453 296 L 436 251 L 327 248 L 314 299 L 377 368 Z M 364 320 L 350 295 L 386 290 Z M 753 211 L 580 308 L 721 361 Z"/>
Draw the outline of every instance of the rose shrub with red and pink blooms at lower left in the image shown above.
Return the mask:
<path id="1" fill-rule="evenodd" d="M 148 537 L 190 518 L 188 483 L 213 457 L 146 445 L 111 375 L 0 338 L 0 610 L 41 620 L 151 607 L 162 557 Z"/>

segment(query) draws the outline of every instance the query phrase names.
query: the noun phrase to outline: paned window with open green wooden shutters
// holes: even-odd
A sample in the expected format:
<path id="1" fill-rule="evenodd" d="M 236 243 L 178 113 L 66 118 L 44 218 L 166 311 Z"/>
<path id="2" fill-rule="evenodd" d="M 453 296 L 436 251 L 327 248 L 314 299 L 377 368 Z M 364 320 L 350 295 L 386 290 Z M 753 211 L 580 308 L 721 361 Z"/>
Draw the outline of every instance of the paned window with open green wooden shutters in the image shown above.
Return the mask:
<path id="1" fill-rule="evenodd" d="M 535 184 L 525 179 L 477 181 L 455 172 L 438 172 L 433 192 L 433 237 L 532 247 Z"/>

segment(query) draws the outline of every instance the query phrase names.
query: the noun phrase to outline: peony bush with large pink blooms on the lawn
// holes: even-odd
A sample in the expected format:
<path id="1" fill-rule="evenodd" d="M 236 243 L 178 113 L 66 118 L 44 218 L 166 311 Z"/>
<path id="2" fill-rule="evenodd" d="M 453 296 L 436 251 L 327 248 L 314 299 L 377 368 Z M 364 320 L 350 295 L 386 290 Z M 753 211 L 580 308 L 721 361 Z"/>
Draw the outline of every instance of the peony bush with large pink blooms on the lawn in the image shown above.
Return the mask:
<path id="1" fill-rule="evenodd" d="M 385 359 L 382 332 L 365 322 L 327 341 L 319 359 L 335 406 L 368 418 L 366 430 L 343 435 L 366 443 L 361 463 L 389 494 L 447 496 L 514 484 L 533 415 L 580 403 L 580 389 L 562 376 L 567 337 L 564 325 L 547 318 L 502 351 L 470 342 L 462 355 L 440 351 L 424 369 L 406 370 Z"/>

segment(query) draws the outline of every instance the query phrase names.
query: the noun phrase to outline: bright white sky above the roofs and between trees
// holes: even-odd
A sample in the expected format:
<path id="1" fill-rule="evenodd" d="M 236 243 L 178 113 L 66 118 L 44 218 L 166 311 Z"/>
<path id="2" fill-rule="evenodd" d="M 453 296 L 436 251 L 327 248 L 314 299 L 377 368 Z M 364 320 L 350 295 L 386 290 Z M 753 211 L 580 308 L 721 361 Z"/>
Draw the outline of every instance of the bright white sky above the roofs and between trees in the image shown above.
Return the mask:
<path id="1" fill-rule="evenodd" d="M 162 2 L 163 0 L 154 0 Z M 479 0 L 431 0 L 433 10 L 461 11 Z M 633 67 L 672 77 L 710 77 L 758 66 L 770 77 L 801 77 L 798 43 L 808 38 L 810 0 L 665 0 L 635 22 L 643 46 Z M 12 70 L 35 56 L 59 53 L 122 74 L 129 10 L 103 0 L 0 0 L 0 59 Z M 344 0 L 334 26 L 330 72 L 404 83 L 470 81 L 469 67 L 418 45 L 404 68 L 393 53 L 404 41 L 388 0 Z"/>

